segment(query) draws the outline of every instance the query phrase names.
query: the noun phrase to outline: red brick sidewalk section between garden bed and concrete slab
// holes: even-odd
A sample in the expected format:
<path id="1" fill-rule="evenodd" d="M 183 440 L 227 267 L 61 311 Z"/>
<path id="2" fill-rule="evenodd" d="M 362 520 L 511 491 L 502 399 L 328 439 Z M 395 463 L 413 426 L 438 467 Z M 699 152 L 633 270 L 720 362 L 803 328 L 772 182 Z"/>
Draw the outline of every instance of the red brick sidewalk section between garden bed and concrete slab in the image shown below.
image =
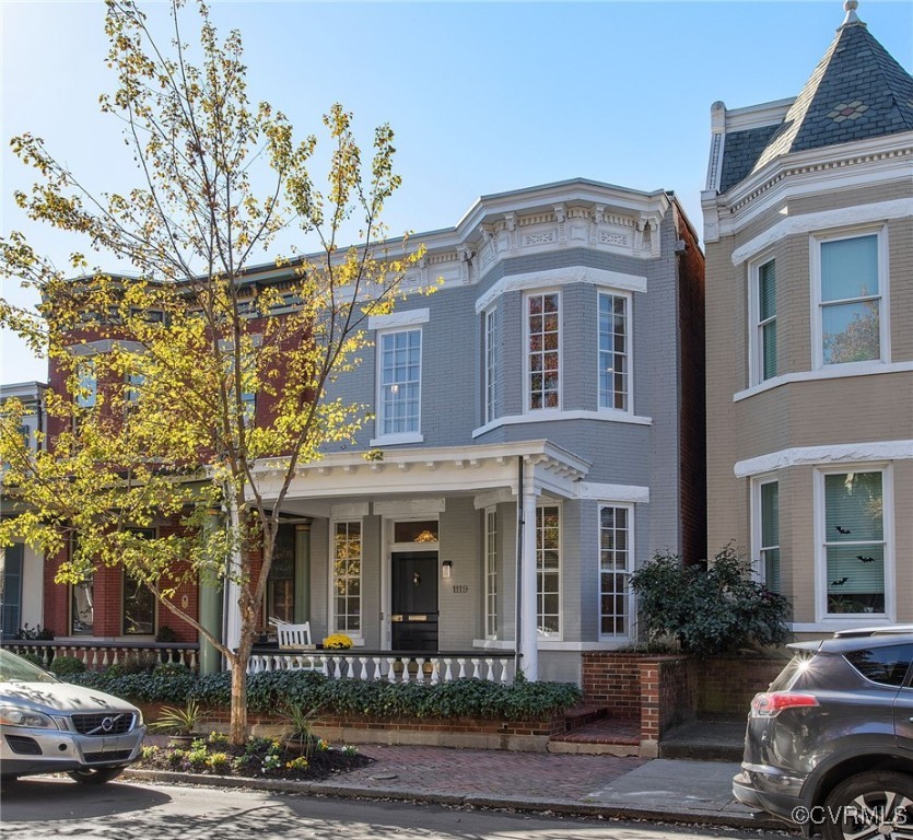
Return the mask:
<path id="1" fill-rule="evenodd" d="M 641 758 L 552 752 L 361 745 L 370 767 L 332 780 L 337 788 L 408 789 L 463 796 L 580 801 L 645 763 Z M 395 778 L 391 778 L 395 777 Z"/>

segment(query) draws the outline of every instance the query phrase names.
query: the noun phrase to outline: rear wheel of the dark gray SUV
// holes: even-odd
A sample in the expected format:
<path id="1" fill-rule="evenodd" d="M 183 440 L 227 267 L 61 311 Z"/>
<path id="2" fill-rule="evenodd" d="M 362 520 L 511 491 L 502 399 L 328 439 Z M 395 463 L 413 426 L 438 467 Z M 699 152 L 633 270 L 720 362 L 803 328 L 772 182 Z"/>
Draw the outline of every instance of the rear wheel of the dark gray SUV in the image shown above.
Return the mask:
<path id="1" fill-rule="evenodd" d="M 859 773 L 824 801 L 824 840 L 913 840 L 913 775 Z"/>

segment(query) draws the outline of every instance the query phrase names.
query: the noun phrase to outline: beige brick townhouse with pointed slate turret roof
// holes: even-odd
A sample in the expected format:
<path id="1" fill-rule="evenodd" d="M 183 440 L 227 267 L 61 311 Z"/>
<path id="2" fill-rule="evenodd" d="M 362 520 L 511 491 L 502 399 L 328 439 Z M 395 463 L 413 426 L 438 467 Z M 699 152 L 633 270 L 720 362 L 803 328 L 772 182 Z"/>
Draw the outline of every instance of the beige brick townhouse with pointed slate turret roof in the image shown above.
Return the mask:
<path id="1" fill-rule="evenodd" d="M 702 195 L 709 545 L 798 634 L 913 622 L 913 78 L 856 7 L 798 96 L 713 105 Z"/>

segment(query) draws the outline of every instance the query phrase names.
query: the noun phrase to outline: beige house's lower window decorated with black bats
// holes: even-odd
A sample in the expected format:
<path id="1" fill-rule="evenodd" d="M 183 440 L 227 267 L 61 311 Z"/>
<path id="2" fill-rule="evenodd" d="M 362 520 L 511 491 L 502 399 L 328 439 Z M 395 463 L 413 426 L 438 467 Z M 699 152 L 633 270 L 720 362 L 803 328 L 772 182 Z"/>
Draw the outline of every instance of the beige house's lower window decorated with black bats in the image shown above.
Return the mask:
<path id="1" fill-rule="evenodd" d="M 818 474 L 818 525 L 828 615 L 885 614 L 886 476 L 880 469 Z"/>

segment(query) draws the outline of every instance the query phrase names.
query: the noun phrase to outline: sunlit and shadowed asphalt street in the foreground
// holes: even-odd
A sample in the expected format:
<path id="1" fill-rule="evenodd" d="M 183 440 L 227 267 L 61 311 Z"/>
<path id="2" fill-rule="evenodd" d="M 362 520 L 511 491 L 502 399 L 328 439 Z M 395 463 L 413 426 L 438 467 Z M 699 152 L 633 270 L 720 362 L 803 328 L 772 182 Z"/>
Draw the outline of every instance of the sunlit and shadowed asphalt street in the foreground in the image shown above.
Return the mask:
<path id="1" fill-rule="evenodd" d="M 42 777 L 4 785 L 0 820 L 3 838 L 22 840 L 757 840 L 787 836 L 134 781 L 90 788 L 65 778 Z"/>

